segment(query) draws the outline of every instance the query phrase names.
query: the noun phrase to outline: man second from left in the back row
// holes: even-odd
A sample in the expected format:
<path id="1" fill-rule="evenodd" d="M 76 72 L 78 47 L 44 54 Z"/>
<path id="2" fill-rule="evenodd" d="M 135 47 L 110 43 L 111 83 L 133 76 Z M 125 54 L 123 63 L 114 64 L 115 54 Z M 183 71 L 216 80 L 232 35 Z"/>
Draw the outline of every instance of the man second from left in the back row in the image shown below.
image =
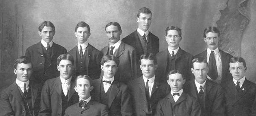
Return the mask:
<path id="1" fill-rule="evenodd" d="M 67 52 L 75 60 L 75 75 L 89 75 L 92 79 L 99 78 L 102 52 L 87 41 L 90 37 L 90 26 L 84 21 L 79 22 L 75 28 L 75 36 L 77 45 Z"/>

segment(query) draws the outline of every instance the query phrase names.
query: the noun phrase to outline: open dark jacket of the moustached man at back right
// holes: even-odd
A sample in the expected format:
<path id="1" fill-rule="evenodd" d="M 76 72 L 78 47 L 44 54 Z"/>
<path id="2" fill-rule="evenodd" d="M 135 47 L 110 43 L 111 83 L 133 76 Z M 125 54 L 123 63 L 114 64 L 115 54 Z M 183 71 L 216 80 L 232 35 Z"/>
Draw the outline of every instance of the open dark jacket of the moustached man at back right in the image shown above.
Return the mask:
<path id="1" fill-rule="evenodd" d="M 221 83 L 223 83 L 233 78 L 229 71 L 229 59 L 233 58 L 233 56 L 230 55 L 229 53 L 223 52 L 220 49 L 219 49 L 219 52 L 221 54 L 221 66 L 222 66 Z M 207 50 L 201 52 L 198 55 L 195 55 L 195 58 L 199 58 L 199 57 L 207 59 Z"/>

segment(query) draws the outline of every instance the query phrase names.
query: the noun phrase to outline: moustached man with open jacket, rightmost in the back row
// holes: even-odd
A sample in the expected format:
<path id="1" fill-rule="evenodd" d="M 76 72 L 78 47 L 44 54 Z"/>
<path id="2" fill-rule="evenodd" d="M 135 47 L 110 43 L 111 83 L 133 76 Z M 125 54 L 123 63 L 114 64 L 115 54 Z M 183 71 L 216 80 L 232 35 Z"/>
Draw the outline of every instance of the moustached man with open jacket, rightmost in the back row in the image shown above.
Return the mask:
<path id="1" fill-rule="evenodd" d="M 208 79 L 221 84 L 232 79 L 228 70 L 228 61 L 233 56 L 218 49 L 220 31 L 217 27 L 209 26 L 204 29 L 204 42 L 207 44 L 207 50 L 195 55 L 195 58 L 205 58 L 208 62 Z"/>

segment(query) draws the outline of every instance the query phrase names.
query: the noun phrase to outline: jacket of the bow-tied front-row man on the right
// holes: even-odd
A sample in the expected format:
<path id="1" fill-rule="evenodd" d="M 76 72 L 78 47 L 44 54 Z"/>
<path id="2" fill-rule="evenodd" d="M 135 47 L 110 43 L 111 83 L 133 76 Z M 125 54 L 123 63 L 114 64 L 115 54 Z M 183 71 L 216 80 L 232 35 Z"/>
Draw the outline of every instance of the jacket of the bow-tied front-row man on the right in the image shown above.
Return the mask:
<path id="1" fill-rule="evenodd" d="M 157 104 L 154 116 L 200 116 L 201 107 L 197 99 L 189 94 L 182 93 L 177 102 L 174 101 L 172 94 L 169 93 Z"/>

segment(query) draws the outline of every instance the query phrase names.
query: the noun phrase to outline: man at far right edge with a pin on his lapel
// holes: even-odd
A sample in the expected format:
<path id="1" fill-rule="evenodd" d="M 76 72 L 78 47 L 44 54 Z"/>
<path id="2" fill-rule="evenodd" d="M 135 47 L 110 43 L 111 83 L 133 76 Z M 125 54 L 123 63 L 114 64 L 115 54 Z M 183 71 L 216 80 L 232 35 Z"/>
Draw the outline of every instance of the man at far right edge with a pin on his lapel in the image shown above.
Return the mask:
<path id="1" fill-rule="evenodd" d="M 226 116 L 256 116 L 256 85 L 244 76 L 247 70 L 244 59 L 231 58 L 229 66 L 233 79 L 222 85 Z"/>

